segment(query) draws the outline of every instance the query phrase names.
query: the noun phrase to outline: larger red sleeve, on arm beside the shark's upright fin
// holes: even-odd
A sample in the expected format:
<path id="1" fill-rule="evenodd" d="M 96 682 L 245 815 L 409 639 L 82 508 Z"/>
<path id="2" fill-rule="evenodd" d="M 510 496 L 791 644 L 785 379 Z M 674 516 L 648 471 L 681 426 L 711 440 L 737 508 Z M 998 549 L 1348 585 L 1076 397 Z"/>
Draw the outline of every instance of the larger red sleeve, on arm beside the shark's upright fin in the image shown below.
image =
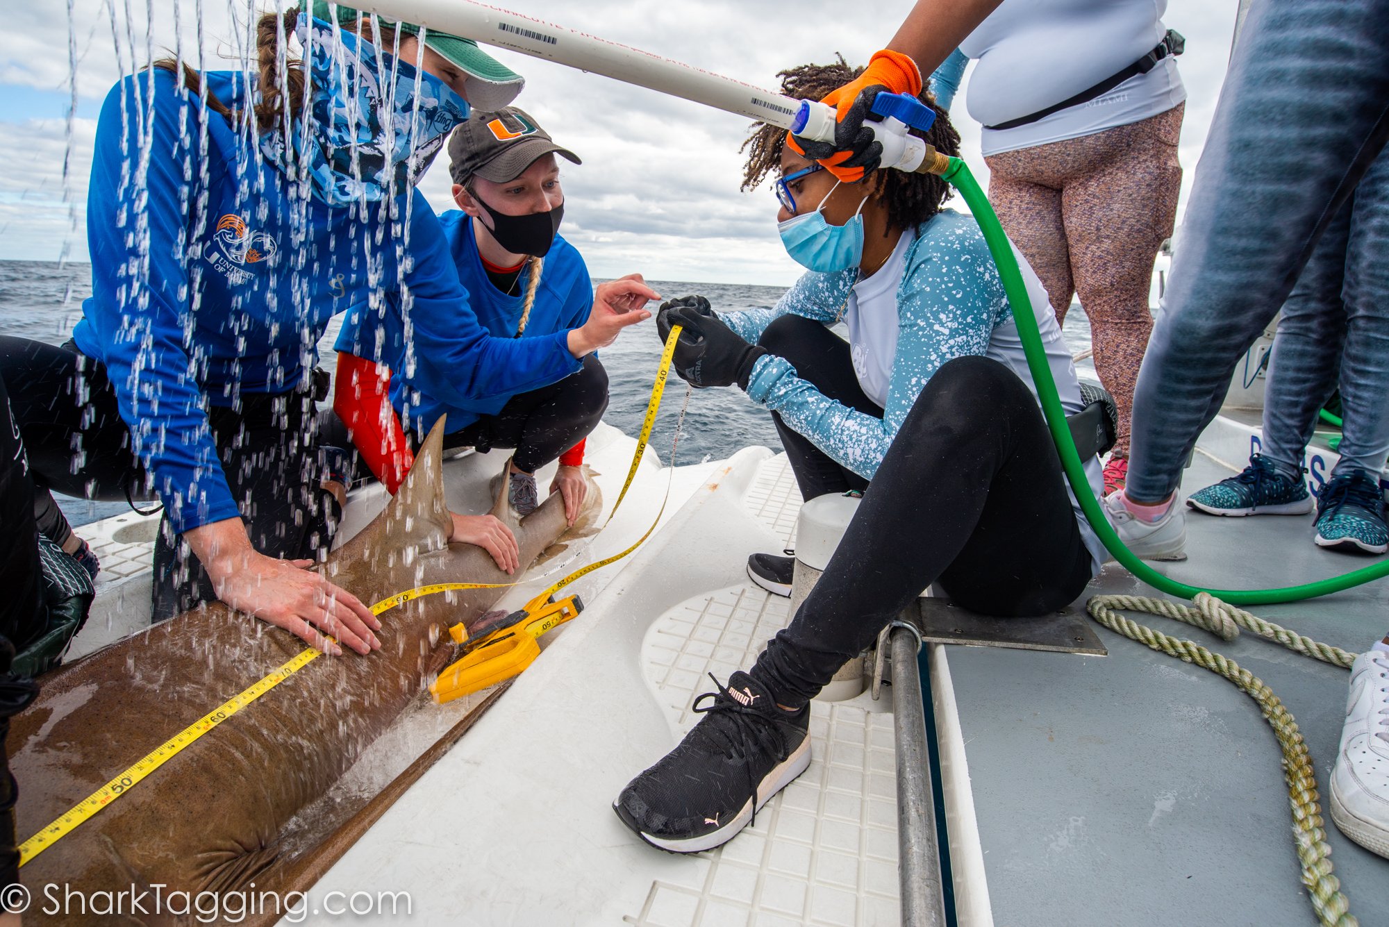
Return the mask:
<path id="1" fill-rule="evenodd" d="M 400 418 L 390 407 L 390 371 L 372 361 L 338 352 L 333 412 L 347 426 L 353 444 L 372 475 L 390 494 L 406 480 L 415 455 L 406 444 Z"/>

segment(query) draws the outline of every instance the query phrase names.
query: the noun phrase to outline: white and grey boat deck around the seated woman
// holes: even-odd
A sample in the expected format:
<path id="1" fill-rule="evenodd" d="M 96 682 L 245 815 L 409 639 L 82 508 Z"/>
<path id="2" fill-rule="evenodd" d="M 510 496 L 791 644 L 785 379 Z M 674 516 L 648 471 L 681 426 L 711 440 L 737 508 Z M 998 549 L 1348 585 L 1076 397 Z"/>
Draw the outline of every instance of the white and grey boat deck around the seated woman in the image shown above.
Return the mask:
<path id="1" fill-rule="evenodd" d="M 590 440 L 590 461 L 610 475 L 608 490 L 611 473 L 619 480 L 625 472 L 631 440 L 613 429 L 601 434 Z M 1242 462 L 1247 441 L 1247 430 L 1225 423 L 1204 443 Z M 468 473 L 458 482 L 478 486 L 490 473 L 479 466 L 485 459 L 451 465 Z M 643 468 L 633 497 L 583 561 L 644 530 L 668 475 Z M 1186 487 L 1225 475 L 1197 454 Z M 410 921 L 422 924 L 899 923 L 886 692 L 881 702 L 867 692 L 817 702 L 810 769 L 721 849 L 654 851 L 611 812 L 622 785 L 694 723 L 690 704 L 710 688 L 706 673 L 722 680 L 746 667 L 789 618 L 786 599 L 745 573 L 749 554 L 793 545 L 799 493 L 785 457 L 747 448 L 676 468 L 675 477 L 664 527 L 628 561 L 585 580 L 579 619 L 546 637 L 536 663 L 313 896 L 408 892 Z M 131 543 L 133 516 L 122 518 L 96 533 Z M 1314 548 L 1310 518 L 1193 515 L 1189 527 L 1192 559 L 1163 568 L 1186 581 L 1274 586 L 1367 562 Z M 126 550 L 126 559 L 139 556 Z M 1111 565 L 1086 598 L 1114 591 L 1150 593 Z M 106 611 L 82 643 L 122 633 L 131 604 L 147 606 L 147 595 L 140 573 L 106 580 Z M 1356 651 L 1389 630 L 1385 605 L 1375 584 L 1254 611 Z M 1263 640 L 1226 644 L 1163 619 L 1149 623 L 1197 638 L 1268 681 L 1297 716 L 1325 787 L 1343 670 Z M 931 647 L 956 923 L 1311 923 L 1278 749 L 1253 702 L 1206 670 L 1100 636 L 1104 658 Z M 371 751 L 344 788 L 389 779 L 410 759 L 400 754 L 447 729 L 449 709 L 417 706 L 403 722 L 415 737 Z M 1360 921 L 1389 924 L 1389 902 L 1375 891 L 1389 863 L 1342 838 L 1329 817 L 1326 831 Z"/>

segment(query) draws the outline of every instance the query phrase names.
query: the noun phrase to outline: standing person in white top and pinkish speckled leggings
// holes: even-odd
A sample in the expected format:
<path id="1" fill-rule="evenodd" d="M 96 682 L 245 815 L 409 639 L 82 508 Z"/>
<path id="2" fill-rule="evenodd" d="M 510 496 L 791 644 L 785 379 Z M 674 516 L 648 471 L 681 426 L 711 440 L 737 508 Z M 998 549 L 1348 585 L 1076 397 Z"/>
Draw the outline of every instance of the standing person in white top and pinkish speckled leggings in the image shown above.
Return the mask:
<path id="1" fill-rule="evenodd" d="M 989 201 L 1042 279 L 1057 323 L 1072 294 L 1090 321 L 1095 369 L 1120 418 L 1106 494 L 1128 473 L 1153 261 L 1172 233 L 1182 183 L 1182 37 L 1163 25 L 1165 8 L 1165 0 L 1006 0 L 931 76 L 949 108 L 967 61 L 978 60 L 968 110 L 983 124 Z M 1075 42 L 1051 40 L 1058 32 Z"/>

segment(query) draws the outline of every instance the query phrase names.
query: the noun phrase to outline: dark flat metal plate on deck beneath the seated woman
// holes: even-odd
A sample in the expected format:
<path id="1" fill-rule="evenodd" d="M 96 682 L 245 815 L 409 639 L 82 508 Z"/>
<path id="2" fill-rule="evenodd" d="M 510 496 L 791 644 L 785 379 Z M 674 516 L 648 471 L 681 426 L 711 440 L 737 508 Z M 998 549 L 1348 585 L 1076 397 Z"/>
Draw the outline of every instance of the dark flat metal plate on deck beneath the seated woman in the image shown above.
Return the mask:
<path id="1" fill-rule="evenodd" d="M 1025 651 L 1060 651 L 1108 656 L 1093 623 L 1081 608 L 1035 618 L 990 618 L 953 605 L 943 598 L 917 599 L 904 619 L 921 631 L 921 640 L 932 644 L 964 644 L 967 647 L 1013 647 Z"/>

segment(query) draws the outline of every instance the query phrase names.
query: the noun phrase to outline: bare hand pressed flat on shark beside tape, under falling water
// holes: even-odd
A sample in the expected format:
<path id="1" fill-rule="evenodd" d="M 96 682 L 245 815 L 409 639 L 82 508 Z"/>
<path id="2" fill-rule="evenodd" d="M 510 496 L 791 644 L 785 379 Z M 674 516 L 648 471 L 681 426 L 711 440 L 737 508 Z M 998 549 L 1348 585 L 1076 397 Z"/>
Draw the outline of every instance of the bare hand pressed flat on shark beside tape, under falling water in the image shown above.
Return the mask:
<path id="1" fill-rule="evenodd" d="M 240 519 L 203 525 L 183 534 L 203 563 L 217 598 L 282 627 L 325 654 L 339 655 L 333 637 L 358 654 L 381 648 L 381 622 L 351 593 L 308 569 L 313 561 L 282 561 L 251 547 Z"/>

